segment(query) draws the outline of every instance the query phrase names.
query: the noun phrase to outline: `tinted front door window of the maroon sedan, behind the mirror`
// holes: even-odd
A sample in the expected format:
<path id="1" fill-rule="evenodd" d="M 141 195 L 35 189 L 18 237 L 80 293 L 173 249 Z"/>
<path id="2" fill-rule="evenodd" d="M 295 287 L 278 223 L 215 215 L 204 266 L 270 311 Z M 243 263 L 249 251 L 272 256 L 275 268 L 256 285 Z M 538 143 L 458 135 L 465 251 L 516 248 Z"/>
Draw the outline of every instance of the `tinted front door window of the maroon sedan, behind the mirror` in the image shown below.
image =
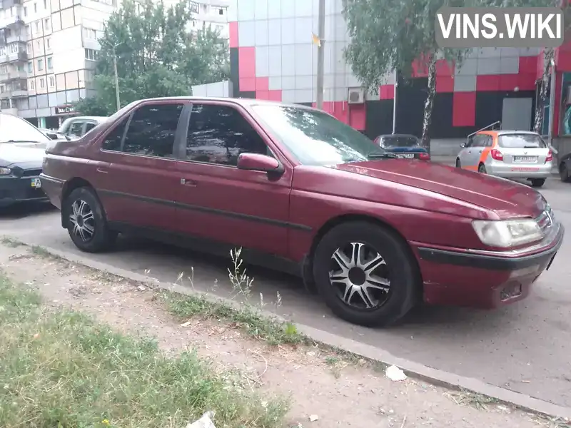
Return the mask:
<path id="1" fill-rule="evenodd" d="M 186 159 L 236 166 L 241 153 L 273 156 L 260 134 L 228 106 L 194 104 L 186 137 Z"/>

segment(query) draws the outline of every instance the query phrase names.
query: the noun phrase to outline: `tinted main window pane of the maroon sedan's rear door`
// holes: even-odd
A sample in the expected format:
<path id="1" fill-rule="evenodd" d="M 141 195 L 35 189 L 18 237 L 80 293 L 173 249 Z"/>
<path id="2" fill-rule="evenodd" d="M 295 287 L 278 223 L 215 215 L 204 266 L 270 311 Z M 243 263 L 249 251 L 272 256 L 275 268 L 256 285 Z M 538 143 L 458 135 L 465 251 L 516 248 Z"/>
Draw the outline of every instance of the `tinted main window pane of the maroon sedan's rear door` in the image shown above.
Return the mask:
<path id="1" fill-rule="evenodd" d="M 131 122 L 122 151 L 143 156 L 173 158 L 174 137 L 183 104 L 151 104 L 138 108 Z"/>

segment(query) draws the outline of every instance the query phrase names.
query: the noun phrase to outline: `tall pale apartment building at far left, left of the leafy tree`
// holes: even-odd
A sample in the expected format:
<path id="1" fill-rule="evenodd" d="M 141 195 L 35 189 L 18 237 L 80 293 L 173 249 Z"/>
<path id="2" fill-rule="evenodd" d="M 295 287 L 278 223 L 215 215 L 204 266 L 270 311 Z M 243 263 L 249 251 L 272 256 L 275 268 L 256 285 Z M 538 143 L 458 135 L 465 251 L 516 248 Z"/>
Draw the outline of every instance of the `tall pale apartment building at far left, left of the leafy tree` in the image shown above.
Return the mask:
<path id="1" fill-rule="evenodd" d="M 57 128 L 93 91 L 116 0 L 0 0 L 0 109 Z"/>

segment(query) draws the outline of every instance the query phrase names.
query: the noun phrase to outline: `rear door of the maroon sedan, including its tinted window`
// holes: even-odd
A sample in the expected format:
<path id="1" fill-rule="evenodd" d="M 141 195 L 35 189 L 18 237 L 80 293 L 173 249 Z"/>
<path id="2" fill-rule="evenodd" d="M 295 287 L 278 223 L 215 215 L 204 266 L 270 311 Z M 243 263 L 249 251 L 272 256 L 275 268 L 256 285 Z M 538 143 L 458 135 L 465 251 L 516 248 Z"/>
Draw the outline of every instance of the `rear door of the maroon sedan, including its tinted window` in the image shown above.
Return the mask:
<path id="1" fill-rule="evenodd" d="M 174 199 L 180 178 L 174 143 L 184 104 L 149 102 L 103 137 L 96 188 L 107 218 L 121 228 L 157 233 L 174 230 Z M 186 131 L 186 130 L 185 130 Z"/>

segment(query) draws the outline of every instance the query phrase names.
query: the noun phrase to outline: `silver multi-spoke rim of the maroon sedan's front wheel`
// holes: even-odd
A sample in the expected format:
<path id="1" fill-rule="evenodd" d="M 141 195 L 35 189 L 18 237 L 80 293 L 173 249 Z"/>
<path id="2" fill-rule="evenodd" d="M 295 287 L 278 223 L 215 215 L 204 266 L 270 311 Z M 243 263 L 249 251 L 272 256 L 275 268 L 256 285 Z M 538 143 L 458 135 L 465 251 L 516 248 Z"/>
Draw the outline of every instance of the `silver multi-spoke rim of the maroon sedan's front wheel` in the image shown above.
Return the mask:
<path id="1" fill-rule="evenodd" d="M 370 245 L 349 243 L 333 252 L 331 262 L 330 284 L 345 305 L 373 310 L 388 300 L 388 265 Z"/>

